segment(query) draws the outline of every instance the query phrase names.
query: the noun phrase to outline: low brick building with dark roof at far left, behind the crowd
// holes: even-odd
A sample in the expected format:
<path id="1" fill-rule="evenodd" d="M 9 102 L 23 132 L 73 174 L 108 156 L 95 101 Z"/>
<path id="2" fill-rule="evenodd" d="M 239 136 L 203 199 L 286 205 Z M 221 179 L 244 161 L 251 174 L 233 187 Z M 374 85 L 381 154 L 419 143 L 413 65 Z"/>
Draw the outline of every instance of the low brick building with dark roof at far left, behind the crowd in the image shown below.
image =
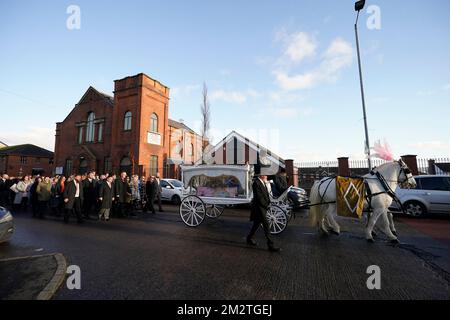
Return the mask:
<path id="1" fill-rule="evenodd" d="M 52 172 L 53 152 L 49 150 L 33 144 L 0 147 L 0 173 L 22 177 Z"/>

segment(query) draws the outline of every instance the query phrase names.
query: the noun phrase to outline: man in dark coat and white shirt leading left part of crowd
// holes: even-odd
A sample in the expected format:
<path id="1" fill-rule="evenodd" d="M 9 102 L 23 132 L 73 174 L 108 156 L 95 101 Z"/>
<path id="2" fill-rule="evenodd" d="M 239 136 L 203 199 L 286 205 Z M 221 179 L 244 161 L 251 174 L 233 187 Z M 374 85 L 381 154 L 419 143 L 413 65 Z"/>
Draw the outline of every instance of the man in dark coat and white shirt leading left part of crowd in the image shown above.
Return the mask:
<path id="1" fill-rule="evenodd" d="M 74 180 L 66 184 L 64 188 L 64 222 L 69 222 L 72 213 L 77 216 L 77 222 L 83 222 L 82 206 L 83 206 L 83 185 L 81 183 L 81 175 L 77 174 Z"/>

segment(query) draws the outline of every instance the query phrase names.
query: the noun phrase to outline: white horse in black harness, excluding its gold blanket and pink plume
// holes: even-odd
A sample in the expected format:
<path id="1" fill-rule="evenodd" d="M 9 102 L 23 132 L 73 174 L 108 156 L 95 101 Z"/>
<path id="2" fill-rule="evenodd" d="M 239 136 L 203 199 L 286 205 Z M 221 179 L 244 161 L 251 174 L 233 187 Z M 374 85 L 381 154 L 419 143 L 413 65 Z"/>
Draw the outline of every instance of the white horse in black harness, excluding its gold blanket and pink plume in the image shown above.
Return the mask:
<path id="1" fill-rule="evenodd" d="M 370 200 L 372 212 L 368 213 L 365 229 L 367 241 L 373 242 L 373 228 L 381 217 L 382 231 L 391 242 L 398 243 L 392 213 L 388 212 L 393 201 L 389 192 L 395 192 L 398 185 L 403 188 L 415 188 L 416 181 L 411 171 L 402 160 L 399 160 L 384 163 L 363 178 L 367 183 L 366 188 L 368 186 L 372 194 Z M 311 189 L 310 203 L 310 217 L 314 225 L 318 225 L 319 231 L 323 231 L 326 235 L 330 232 L 339 235 L 340 227 L 333 217 L 336 212 L 336 179 L 323 178 L 316 181 Z M 369 208 L 367 201 L 364 208 L 365 210 Z"/>

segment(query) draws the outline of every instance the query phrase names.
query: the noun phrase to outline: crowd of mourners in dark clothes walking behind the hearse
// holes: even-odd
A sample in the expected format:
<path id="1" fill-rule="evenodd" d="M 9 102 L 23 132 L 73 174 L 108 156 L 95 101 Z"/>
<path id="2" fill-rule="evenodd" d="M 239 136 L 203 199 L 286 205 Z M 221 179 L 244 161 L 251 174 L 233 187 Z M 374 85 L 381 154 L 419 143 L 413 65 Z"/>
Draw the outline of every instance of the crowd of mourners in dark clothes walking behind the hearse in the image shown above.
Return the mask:
<path id="1" fill-rule="evenodd" d="M 84 219 L 109 221 L 113 217 L 135 216 L 137 210 L 155 213 L 154 203 L 161 207 L 159 174 L 150 176 L 127 175 L 122 172 L 98 176 L 87 174 L 0 178 L 0 206 L 12 212 L 31 209 L 34 218 L 47 215 L 63 217 L 68 223 L 71 216 L 78 223 Z"/>

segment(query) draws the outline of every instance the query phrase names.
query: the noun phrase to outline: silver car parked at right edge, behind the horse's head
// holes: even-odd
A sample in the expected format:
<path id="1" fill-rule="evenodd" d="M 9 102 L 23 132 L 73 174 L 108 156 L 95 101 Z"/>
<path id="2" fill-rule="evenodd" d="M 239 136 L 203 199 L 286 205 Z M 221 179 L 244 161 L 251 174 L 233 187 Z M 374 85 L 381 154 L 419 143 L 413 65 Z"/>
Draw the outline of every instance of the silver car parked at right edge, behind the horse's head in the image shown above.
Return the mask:
<path id="1" fill-rule="evenodd" d="M 450 176 L 416 176 L 415 189 L 396 190 L 396 194 L 408 214 L 414 217 L 430 214 L 450 214 Z M 398 210 L 393 204 L 391 208 Z"/>

